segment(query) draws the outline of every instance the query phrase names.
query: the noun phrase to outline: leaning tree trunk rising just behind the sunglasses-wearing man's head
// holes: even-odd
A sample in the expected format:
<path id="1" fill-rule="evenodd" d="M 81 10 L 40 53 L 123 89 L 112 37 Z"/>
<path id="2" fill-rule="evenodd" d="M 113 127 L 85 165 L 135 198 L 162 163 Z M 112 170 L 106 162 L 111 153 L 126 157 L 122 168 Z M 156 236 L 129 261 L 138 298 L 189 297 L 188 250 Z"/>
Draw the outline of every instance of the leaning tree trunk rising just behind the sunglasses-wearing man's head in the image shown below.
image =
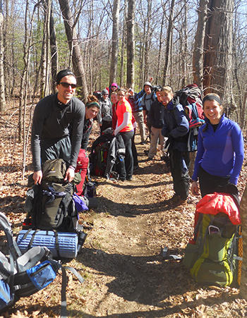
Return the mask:
<path id="1" fill-rule="evenodd" d="M 80 44 L 76 35 L 76 25 L 73 23 L 73 16 L 68 0 L 59 0 L 61 13 L 64 18 L 64 27 L 66 37 L 68 39 L 68 47 L 72 55 L 73 71 L 77 78 L 78 87 L 81 87 L 81 94 L 83 102 L 88 97 L 88 85 L 85 78 L 85 71 L 83 66 L 83 58 L 80 54 Z"/>

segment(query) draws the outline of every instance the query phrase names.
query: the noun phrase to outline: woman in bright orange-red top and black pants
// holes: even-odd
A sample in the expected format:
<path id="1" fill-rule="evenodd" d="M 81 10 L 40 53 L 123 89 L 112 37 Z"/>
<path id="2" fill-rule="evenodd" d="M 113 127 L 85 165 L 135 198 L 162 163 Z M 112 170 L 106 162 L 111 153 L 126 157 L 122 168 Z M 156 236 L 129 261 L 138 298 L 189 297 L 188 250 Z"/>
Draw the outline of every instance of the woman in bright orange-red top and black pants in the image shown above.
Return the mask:
<path id="1" fill-rule="evenodd" d="M 131 150 L 131 138 L 134 135 L 134 128 L 132 125 L 132 110 L 131 104 L 126 100 L 126 90 L 124 88 L 120 88 L 117 97 L 118 104 L 116 106 L 116 129 L 114 130 L 114 135 L 116 136 L 118 133 L 122 136 L 123 142 L 126 148 L 125 153 L 125 175 L 121 176 L 121 180 L 128 181 L 132 180 L 133 175 L 133 154 Z"/>

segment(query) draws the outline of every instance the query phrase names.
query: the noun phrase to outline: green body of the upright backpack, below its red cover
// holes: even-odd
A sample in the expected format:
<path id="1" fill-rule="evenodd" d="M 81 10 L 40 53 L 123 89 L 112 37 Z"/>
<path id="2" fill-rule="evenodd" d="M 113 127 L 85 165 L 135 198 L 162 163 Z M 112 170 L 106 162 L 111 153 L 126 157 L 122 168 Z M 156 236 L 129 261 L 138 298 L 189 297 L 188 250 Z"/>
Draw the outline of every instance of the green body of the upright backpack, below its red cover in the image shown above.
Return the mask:
<path id="1" fill-rule="evenodd" d="M 237 228 L 227 214 L 200 214 L 195 244 L 188 243 L 183 264 L 191 276 L 205 285 L 229 286 L 236 268 Z"/>

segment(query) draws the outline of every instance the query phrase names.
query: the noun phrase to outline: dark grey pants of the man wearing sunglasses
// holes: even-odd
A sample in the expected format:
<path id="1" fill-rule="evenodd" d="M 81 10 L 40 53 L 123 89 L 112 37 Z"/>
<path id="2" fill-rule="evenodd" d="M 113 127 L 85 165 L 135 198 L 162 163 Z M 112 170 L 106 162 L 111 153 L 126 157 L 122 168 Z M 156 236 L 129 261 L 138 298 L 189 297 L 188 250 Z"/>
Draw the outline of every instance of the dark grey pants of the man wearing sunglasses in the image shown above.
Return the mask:
<path id="1" fill-rule="evenodd" d="M 71 139 L 66 136 L 60 140 L 41 140 L 41 161 L 64 159 L 66 165 L 71 162 Z"/>

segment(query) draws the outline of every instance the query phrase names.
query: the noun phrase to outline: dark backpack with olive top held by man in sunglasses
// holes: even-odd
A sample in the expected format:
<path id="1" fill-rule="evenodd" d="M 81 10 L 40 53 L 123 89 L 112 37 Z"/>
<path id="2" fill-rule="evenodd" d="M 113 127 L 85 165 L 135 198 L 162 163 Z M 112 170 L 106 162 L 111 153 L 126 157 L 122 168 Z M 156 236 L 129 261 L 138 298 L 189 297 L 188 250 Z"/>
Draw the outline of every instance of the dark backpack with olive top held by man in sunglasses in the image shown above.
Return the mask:
<path id="1" fill-rule="evenodd" d="M 25 210 L 31 219 L 30 227 L 75 232 L 78 212 L 73 201 L 73 185 L 64 181 L 64 160 L 47 160 L 42 164 L 42 171 L 42 183 L 28 190 L 25 201 Z"/>

